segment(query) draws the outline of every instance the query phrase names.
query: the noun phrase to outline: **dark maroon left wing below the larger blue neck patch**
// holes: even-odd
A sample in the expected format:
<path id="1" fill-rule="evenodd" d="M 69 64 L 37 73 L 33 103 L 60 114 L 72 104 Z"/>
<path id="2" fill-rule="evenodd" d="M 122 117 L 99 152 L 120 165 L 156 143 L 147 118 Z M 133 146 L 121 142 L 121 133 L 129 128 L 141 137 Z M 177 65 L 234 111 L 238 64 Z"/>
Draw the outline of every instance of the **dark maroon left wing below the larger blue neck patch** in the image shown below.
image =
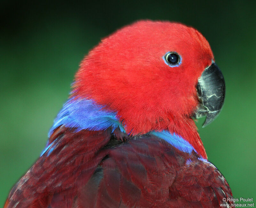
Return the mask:
<path id="1" fill-rule="evenodd" d="M 50 148 L 12 188 L 5 207 L 72 207 L 80 186 L 84 186 L 106 154 L 99 152 L 110 140 L 111 129 L 73 133 L 58 128 Z M 103 151 L 101 151 L 103 152 Z"/>

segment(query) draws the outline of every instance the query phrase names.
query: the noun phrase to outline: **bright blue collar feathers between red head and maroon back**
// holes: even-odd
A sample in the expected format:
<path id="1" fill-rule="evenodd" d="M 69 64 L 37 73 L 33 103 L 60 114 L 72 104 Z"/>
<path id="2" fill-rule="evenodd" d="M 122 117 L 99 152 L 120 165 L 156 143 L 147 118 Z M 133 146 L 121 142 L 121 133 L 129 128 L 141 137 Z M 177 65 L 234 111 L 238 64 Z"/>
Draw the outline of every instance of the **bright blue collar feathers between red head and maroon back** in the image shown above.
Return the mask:
<path id="1" fill-rule="evenodd" d="M 69 99 L 55 118 L 54 124 L 48 136 L 50 137 L 54 129 L 60 125 L 76 128 L 74 130 L 75 132 L 79 132 L 82 129 L 100 131 L 112 126 L 113 131 L 119 127 L 120 130 L 125 133 L 124 126 L 119 121 L 117 114 L 103 108 L 104 106 L 96 104 L 93 100 L 75 98 Z M 196 152 L 188 141 L 184 140 L 175 133 L 172 134 L 169 131 L 164 130 L 162 132 L 152 131 L 149 132 L 149 134 L 167 141 L 180 151 L 191 153 L 194 150 Z M 48 151 L 49 155 L 55 148 L 57 142 L 58 141 L 53 141 L 51 144 L 47 144 L 41 156 L 50 148 L 50 151 Z"/>

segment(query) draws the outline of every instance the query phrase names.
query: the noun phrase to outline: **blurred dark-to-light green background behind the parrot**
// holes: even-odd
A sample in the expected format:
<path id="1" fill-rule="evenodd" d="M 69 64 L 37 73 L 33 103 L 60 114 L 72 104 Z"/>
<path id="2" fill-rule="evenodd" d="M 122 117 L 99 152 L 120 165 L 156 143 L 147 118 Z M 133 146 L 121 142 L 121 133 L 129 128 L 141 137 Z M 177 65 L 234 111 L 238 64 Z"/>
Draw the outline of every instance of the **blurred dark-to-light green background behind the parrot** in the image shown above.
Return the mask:
<path id="1" fill-rule="evenodd" d="M 1 1 L 0 206 L 36 161 L 84 55 L 140 19 L 179 21 L 209 41 L 226 81 L 220 116 L 202 128 L 208 159 L 234 197 L 256 196 L 256 1 Z M 256 198 L 255 198 L 256 199 Z"/>

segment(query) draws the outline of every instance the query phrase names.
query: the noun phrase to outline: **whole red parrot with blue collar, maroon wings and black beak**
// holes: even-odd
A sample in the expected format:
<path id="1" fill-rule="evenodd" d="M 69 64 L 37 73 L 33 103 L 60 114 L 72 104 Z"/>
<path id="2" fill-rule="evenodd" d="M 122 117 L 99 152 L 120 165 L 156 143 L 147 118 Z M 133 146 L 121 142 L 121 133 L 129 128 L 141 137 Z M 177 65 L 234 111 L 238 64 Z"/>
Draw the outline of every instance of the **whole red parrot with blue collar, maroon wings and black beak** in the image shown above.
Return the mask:
<path id="1" fill-rule="evenodd" d="M 195 125 L 210 124 L 224 100 L 223 74 L 195 28 L 124 26 L 82 60 L 45 149 L 4 208 L 233 207 Z"/>

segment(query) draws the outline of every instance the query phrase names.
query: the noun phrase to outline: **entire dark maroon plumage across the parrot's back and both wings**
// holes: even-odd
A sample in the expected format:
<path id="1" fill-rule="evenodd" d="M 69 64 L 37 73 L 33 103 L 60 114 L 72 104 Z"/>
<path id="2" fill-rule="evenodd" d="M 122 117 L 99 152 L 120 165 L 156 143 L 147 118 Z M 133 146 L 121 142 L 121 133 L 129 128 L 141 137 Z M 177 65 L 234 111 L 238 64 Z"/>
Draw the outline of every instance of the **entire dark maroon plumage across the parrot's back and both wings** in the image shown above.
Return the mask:
<path id="1" fill-rule="evenodd" d="M 5 207 L 219 207 L 231 190 L 215 166 L 164 140 L 120 141 L 106 131 L 60 127 L 12 189 Z"/>

